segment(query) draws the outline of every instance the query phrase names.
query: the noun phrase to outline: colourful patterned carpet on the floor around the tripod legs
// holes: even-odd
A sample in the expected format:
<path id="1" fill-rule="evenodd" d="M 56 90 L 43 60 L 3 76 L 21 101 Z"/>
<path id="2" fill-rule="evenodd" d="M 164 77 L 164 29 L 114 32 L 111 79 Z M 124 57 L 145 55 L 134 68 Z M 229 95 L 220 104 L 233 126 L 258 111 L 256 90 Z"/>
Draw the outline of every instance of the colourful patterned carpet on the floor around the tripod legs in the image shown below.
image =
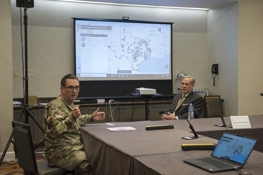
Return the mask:
<path id="1" fill-rule="evenodd" d="M 37 162 L 45 160 L 44 154 L 36 154 Z M 0 167 L 0 175 L 23 175 L 23 169 L 19 167 L 16 157 L 15 161 L 3 161 Z"/>

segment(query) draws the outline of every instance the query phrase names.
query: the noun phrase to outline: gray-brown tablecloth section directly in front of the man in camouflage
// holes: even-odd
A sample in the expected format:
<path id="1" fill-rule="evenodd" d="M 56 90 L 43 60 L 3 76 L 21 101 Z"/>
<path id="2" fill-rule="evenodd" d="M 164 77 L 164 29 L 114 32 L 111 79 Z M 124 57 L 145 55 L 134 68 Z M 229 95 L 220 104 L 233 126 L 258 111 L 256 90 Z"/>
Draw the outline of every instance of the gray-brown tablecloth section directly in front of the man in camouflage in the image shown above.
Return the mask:
<path id="1" fill-rule="evenodd" d="M 155 155 L 181 150 L 183 143 L 217 143 L 218 140 L 200 137 L 184 140 L 181 137 L 194 136 L 179 129 L 145 130 L 146 126 L 159 125 L 152 121 L 113 122 L 82 126 L 80 132 L 85 152 L 95 174 L 130 174 L 134 156 Z M 131 126 L 136 130 L 109 131 L 108 127 Z"/>

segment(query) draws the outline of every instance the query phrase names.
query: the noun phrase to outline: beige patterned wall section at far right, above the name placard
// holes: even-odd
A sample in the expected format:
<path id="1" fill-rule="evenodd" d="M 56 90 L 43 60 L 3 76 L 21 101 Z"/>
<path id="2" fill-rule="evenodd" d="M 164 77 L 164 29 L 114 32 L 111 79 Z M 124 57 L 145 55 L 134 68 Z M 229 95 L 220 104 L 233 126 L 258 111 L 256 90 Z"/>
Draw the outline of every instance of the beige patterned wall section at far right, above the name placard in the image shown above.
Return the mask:
<path id="1" fill-rule="evenodd" d="M 263 1 L 239 1 L 238 115 L 263 114 Z"/>

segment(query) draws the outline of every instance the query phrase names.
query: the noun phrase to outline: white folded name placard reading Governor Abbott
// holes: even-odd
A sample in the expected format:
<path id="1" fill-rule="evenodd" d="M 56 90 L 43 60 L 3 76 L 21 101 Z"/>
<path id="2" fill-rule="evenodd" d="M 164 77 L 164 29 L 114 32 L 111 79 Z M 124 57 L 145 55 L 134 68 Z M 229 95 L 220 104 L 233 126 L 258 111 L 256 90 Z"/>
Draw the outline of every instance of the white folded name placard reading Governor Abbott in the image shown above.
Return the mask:
<path id="1" fill-rule="evenodd" d="M 251 128 L 248 116 L 230 116 L 228 125 L 234 128 Z"/>

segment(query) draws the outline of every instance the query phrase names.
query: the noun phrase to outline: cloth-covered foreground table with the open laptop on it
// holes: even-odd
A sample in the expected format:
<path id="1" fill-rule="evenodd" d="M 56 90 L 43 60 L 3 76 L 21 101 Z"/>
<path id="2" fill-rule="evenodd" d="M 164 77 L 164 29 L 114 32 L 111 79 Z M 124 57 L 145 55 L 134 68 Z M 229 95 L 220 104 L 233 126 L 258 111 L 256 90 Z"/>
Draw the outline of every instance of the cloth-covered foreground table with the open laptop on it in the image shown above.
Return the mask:
<path id="1" fill-rule="evenodd" d="M 158 121 L 160 122 L 160 121 Z M 209 156 L 211 150 L 184 151 L 185 143 L 217 143 L 203 137 L 185 140 L 193 133 L 179 128 L 146 130 L 146 126 L 160 125 L 156 121 L 112 122 L 88 124 L 80 127 L 85 153 L 94 174 L 211 174 L 185 163 L 183 159 Z M 187 121 L 186 126 L 188 124 Z M 136 130 L 109 131 L 106 128 L 133 127 Z M 263 172 L 263 153 L 253 150 L 242 171 L 252 174 Z M 236 170 L 214 173 L 238 174 Z"/>

